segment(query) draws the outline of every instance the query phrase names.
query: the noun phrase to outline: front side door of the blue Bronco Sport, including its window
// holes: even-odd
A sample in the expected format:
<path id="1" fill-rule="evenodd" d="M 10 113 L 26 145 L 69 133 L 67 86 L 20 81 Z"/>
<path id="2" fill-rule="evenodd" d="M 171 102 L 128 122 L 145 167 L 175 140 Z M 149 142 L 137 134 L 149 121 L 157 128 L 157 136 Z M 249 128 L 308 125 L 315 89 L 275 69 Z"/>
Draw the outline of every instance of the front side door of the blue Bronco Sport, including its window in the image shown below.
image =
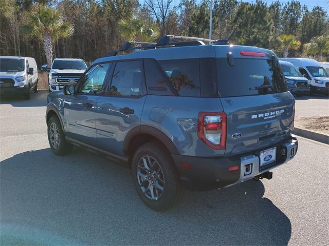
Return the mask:
<path id="1" fill-rule="evenodd" d="M 67 136 L 97 146 L 95 112 L 111 63 L 90 67 L 79 82 L 78 93 L 64 96 L 64 122 Z"/>

